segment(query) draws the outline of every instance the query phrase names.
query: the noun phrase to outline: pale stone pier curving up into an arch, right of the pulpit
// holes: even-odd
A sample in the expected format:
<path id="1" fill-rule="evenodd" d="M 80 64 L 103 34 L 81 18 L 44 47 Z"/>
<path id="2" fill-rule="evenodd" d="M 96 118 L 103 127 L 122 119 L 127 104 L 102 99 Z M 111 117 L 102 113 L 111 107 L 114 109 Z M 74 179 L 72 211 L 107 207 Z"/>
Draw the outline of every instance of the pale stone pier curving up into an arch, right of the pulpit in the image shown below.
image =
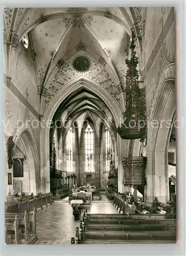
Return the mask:
<path id="1" fill-rule="evenodd" d="M 166 78 L 174 74 L 174 65 L 165 69 Z M 154 109 L 153 120 L 148 121 L 148 143 L 147 143 L 147 195 L 146 200 L 152 203 L 157 197 L 161 203 L 169 199 L 169 177 L 168 177 L 168 143 L 170 138 L 169 120 L 175 113 L 175 83 L 166 81 L 163 83 L 158 104 Z"/>

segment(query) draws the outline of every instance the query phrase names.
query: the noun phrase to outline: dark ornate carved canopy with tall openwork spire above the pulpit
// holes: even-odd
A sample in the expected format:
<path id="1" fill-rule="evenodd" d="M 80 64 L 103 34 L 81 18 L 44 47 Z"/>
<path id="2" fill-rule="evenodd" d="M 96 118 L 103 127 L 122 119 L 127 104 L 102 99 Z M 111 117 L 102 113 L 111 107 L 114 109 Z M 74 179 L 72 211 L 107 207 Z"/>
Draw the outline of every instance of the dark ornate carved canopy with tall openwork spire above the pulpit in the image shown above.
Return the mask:
<path id="1" fill-rule="evenodd" d="M 117 132 L 122 139 L 139 139 L 146 134 L 146 101 L 145 88 L 139 88 L 134 38 L 131 40 L 131 58 L 126 59 L 128 67 L 126 73 L 125 98 L 126 111 L 123 113 L 124 122 Z"/>

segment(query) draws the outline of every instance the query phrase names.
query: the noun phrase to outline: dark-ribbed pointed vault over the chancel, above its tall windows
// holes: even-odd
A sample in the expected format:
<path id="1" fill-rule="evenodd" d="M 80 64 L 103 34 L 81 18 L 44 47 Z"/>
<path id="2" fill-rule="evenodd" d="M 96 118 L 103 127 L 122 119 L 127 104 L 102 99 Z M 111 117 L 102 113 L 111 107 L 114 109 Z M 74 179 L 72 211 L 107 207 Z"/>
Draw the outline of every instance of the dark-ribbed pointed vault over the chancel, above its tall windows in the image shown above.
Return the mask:
<path id="1" fill-rule="evenodd" d="M 53 117 L 58 127 L 59 138 L 62 134 L 65 135 L 71 126 L 77 127 L 80 137 L 82 128 L 88 120 L 94 123 L 98 138 L 103 124 L 112 137 L 115 136 L 116 127 L 109 106 L 98 95 L 84 88 L 73 92 L 62 101 Z"/>

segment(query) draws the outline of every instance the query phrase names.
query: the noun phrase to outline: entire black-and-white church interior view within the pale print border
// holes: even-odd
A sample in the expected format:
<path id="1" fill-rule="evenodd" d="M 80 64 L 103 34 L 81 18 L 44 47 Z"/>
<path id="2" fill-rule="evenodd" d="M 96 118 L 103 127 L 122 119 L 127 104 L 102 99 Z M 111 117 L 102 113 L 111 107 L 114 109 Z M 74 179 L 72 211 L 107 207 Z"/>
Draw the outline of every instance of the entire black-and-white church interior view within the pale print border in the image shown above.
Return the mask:
<path id="1" fill-rule="evenodd" d="M 174 17 L 4 9 L 6 244 L 176 243 Z"/>

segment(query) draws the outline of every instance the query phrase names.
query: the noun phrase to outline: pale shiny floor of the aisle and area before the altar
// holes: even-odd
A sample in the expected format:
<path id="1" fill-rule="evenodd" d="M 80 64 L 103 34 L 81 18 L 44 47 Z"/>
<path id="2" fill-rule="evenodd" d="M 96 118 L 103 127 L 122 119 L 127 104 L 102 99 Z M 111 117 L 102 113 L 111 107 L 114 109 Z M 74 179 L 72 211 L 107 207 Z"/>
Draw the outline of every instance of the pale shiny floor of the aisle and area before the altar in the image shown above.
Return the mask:
<path id="1" fill-rule="evenodd" d="M 54 202 L 48 208 L 37 212 L 37 234 L 36 244 L 70 244 L 71 238 L 75 237 L 75 229 L 79 227 L 79 220 L 74 219 L 73 208 L 64 198 Z M 88 208 L 91 214 L 117 214 L 113 203 L 109 202 L 103 195 L 102 201 L 92 202 Z M 82 210 L 83 214 L 83 210 Z"/>

